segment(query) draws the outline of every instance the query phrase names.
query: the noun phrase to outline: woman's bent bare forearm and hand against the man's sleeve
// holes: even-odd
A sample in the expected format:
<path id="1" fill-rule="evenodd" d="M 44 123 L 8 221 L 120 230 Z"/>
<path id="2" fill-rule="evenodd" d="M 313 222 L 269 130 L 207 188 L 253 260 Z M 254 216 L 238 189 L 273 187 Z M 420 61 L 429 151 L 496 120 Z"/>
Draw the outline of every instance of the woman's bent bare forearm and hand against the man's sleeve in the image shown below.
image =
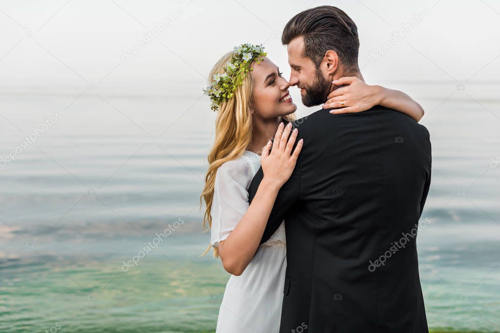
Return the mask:
<path id="1" fill-rule="evenodd" d="M 270 140 L 262 149 L 260 160 L 264 177 L 257 188 L 255 197 L 229 236 L 219 242 L 218 254 L 222 265 L 232 275 L 241 275 L 252 260 L 277 193 L 290 177 L 302 148 L 303 141 L 299 140 L 291 154 L 297 138 L 297 130 L 293 130 L 288 139 L 291 123 L 286 128 L 283 129 L 283 127 L 281 123 L 274 136 L 272 149 Z"/>

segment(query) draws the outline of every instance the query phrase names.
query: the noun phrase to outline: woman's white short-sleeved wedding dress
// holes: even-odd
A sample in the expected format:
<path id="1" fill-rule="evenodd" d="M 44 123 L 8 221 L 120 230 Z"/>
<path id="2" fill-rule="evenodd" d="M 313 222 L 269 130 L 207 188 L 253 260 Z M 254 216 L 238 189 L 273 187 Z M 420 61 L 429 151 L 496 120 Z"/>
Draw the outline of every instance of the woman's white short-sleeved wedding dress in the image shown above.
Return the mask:
<path id="1" fill-rule="evenodd" d="M 248 209 L 248 186 L 260 156 L 245 151 L 215 176 L 211 208 L 212 246 L 227 238 Z M 220 305 L 216 333 L 277 333 L 286 269 L 284 223 L 261 244 L 240 276 L 231 275 Z"/>

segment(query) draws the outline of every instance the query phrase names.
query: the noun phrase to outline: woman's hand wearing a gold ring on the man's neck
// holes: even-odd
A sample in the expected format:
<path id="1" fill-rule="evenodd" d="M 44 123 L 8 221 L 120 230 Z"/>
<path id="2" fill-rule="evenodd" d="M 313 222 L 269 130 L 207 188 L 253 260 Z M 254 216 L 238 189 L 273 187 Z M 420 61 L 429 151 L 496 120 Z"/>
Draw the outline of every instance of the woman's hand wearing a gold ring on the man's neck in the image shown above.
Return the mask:
<path id="1" fill-rule="evenodd" d="M 330 113 L 353 113 L 366 111 L 380 104 L 380 86 L 370 86 L 355 76 L 345 76 L 333 81 L 335 85 L 347 85 L 333 90 L 328 94 L 328 100 L 323 104 L 323 109 L 341 108 L 331 110 Z M 342 105 L 343 101 L 343 105 Z"/>

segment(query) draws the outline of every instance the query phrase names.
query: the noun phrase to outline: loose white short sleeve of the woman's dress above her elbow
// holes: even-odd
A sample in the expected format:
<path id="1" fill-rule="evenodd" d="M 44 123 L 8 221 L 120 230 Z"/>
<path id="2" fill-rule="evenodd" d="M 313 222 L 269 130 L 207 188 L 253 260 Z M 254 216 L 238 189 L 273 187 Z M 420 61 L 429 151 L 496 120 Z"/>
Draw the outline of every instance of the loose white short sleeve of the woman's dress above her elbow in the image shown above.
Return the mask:
<path id="1" fill-rule="evenodd" d="M 229 236 L 248 209 L 248 191 L 235 176 L 237 170 L 225 164 L 217 169 L 213 187 L 211 208 L 212 226 L 210 243 L 217 247 L 218 243 Z"/>

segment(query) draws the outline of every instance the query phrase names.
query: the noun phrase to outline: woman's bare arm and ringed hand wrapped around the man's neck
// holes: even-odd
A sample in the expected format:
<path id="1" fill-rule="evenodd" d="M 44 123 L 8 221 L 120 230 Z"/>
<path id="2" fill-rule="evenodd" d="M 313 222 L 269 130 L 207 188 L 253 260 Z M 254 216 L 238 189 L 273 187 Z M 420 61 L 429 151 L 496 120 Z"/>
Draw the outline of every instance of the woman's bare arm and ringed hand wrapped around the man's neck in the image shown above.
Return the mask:
<path id="1" fill-rule="evenodd" d="M 381 105 L 402 112 L 416 122 L 423 117 L 423 109 L 420 104 L 402 91 L 382 86 L 370 86 L 354 76 L 341 77 L 333 83 L 345 86 L 333 90 L 328 95 L 328 100 L 323 104 L 323 108 L 341 108 L 331 110 L 330 113 L 362 112 L 375 105 Z M 342 101 L 344 102 L 343 106 Z"/>

